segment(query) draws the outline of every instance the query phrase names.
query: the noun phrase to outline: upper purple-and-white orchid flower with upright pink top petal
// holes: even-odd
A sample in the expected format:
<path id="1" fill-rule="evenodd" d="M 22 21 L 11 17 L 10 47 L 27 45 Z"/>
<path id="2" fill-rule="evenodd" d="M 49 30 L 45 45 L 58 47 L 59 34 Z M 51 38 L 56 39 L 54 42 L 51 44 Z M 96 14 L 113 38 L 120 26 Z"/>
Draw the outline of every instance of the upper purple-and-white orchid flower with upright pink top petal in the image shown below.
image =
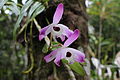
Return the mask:
<path id="1" fill-rule="evenodd" d="M 63 24 L 58 24 L 63 15 L 63 4 L 60 3 L 57 6 L 57 9 L 53 16 L 53 22 L 48 26 L 42 28 L 39 33 L 39 40 L 42 40 L 49 33 L 52 34 L 53 39 L 56 41 L 56 37 L 60 37 L 62 41 L 65 40 L 65 36 L 68 38 L 73 34 L 73 31 L 70 30 L 67 26 Z"/>

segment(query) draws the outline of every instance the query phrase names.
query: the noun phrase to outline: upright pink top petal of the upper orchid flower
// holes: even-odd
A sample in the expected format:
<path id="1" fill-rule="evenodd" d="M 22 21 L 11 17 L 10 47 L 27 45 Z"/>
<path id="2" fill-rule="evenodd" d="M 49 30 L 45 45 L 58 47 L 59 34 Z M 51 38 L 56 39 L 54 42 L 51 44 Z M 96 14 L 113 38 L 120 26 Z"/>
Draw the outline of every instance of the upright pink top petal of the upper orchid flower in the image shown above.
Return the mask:
<path id="1" fill-rule="evenodd" d="M 62 15 L 63 15 L 63 4 L 60 3 L 57 6 L 57 9 L 55 11 L 55 14 L 54 14 L 54 17 L 53 17 L 53 23 L 58 24 L 60 19 L 62 18 Z"/>

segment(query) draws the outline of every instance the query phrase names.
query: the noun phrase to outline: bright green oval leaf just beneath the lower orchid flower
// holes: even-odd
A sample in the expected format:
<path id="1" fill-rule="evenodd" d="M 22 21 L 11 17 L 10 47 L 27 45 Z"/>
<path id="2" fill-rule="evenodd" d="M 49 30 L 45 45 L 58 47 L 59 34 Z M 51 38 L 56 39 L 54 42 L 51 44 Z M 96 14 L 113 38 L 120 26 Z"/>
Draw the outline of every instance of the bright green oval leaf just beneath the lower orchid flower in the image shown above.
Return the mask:
<path id="1" fill-rule="evenodd" d="M 78 63 L 74 62 L 73 64 L 68 64 L 72 70 L 74 70 L 76 73 L 80 74 L 81 76 L 85 76 L 85 70 L 84 68 Z"/>

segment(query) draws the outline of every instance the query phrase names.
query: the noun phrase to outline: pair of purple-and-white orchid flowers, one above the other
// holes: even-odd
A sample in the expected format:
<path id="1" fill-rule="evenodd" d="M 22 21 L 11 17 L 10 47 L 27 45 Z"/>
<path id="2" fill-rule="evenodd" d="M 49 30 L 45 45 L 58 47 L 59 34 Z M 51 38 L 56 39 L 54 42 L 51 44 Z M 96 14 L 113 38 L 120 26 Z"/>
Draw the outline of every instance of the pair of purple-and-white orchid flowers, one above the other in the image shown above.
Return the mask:
<path id="1" fill-rule="evenodd" d="M 84 53 L 73 48 L 68 48 L 68 46 L 79 37 L 80 31 L 78 29 L 72 31 L 67 26 L 59 24 L 59 21 L 63 15 L 63 10 L 64 6 L 62 3 L 60 3 L 54 13 L 53 23 L 42 28 L 39 34 L 39 40 L 45 38 L 45 36 L 47 36 L 49 33 L 51 33 L 54 41 L 57 41 L 56 38 L 58 37 L 61 39 L 61 41 L 65 41 L 65 37 L 67 37 L 67 40 L 64 42 L 61 48 L 53 50 L 50 54 L 44 57 L 47 63 L 55 59 L 54 63 L 57 66 L 60 66 L 61 59 L 66 59 L 70 64 L 74 63 L 75 61 L 81 63 L 84 62 L 85 59 Z"/>

